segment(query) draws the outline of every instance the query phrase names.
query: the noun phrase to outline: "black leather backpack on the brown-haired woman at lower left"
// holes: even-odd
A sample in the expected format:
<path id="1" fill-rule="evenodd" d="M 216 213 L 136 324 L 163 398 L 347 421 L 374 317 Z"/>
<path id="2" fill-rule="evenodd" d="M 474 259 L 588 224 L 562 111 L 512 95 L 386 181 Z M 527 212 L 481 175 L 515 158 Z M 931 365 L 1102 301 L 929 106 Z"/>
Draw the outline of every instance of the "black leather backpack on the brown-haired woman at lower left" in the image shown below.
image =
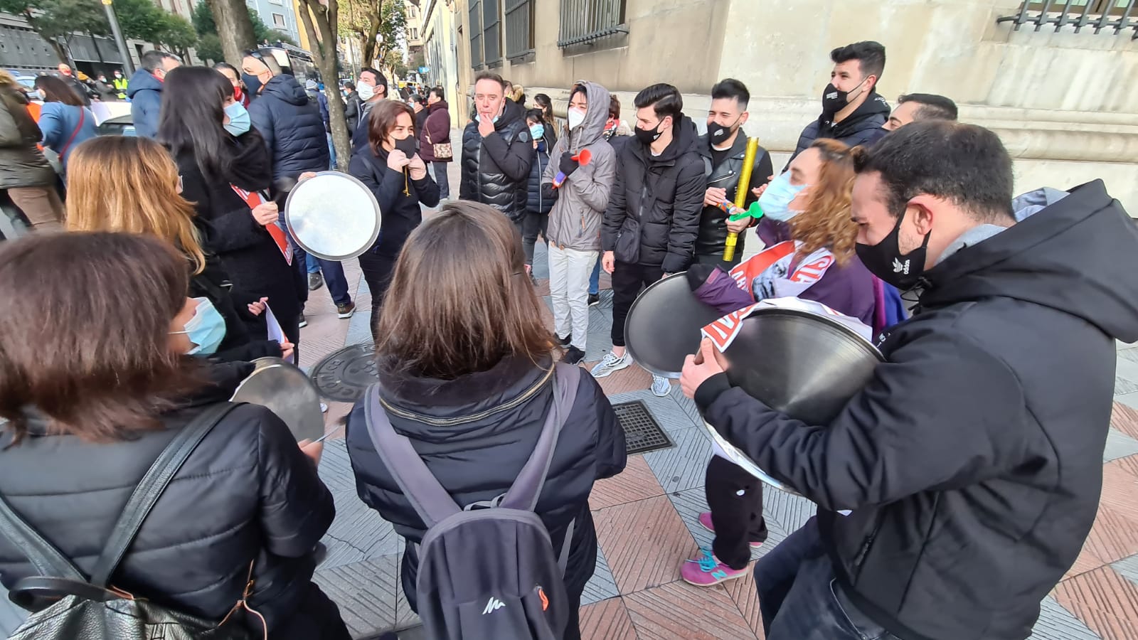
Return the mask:
<path id="1" fill-rule="evenodd" d="M 43 539 L 0 497 L 0 535 L 40 573 L 16 582 L 8 598 L 32 612 L 9 640 L 249 640 L 238 620 L 224 624 L 239 608 L 248 608 L 249 582 L 222 623 L 175 612 L 109 585 L 110 576 L 138 535 L 142 522 L 166 490 L 185 459 L 237 404 L 207 408 L 187 425 L 158 454 L 123 509 L 110 540 L 86 577 L 50 542 Z M 251 581 L 251 566 L 249 580 Z M 251 609 L 250 609 L 251 610 Z M 267 637 L 267 630 L 265 632 Z"/>

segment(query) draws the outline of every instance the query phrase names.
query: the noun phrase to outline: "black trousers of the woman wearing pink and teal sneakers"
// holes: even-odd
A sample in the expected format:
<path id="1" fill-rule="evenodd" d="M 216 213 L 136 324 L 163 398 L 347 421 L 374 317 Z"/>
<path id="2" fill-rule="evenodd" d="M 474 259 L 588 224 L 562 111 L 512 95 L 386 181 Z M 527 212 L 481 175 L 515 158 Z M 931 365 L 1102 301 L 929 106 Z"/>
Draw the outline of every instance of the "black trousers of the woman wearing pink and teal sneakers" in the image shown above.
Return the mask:
<path id="1" fill-rule="evenodd" d="M 711 551 L 728 567 L 744 568 L 751 561 L 750 543 L 767 540 L 767 520 L 762 517 L 762 481 L 734 462 L 712 456 L 703 491 L 715 526 Z"/>

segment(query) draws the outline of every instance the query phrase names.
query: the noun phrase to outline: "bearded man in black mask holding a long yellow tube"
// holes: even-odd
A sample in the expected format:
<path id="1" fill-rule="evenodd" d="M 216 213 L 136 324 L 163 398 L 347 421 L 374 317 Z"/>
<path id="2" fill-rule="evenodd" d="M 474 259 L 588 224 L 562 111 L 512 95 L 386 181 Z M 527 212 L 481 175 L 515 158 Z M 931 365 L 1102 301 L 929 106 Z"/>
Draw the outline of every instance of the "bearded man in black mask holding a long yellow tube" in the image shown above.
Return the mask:
<path id="1" fill-rule="evenodd" d="M 753 218 L 727 220 L 727 212 L 719 207 L 725 202 L 734 203 L 739 189 L 740 174 L 747 159 L 747 133 L 743 125 L 750 114 L 747 105 L 751 92 L 742 82 L 728 77 L 711 88 L 711 108 L 708 109 L 708 132 L 700 138 L 700 153 L 707 161 L 710 171 L 707 173 L 707 190 L 703 192 L 703 213 L 700 215 L 700 233 L 695 238 L 695 262 L 699 264 L 718 264 L 724 271 L 743 260 L 744 231 L 758 223 Z M 770 154 L 759 147 L 751 165 L 751 181 L 744 184 L 748 190 L 743 208 L 750 206 L 757 198 L 753 190 L 766 184 L 774 173 Z M 727 235 L 737 233 L 735 255 L 732 260 L 723 259 L 727 246 Z"/>

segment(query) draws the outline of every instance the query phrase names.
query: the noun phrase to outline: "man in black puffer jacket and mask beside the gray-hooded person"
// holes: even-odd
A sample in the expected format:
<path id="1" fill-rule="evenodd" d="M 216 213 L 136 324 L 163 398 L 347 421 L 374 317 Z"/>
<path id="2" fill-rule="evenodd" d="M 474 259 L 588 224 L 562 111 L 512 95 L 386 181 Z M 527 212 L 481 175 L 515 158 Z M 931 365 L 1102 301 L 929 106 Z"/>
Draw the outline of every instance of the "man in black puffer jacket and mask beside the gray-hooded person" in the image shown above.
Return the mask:
<path id="1" fill-rule="evenodd" d="M 695 124 L 670 84 L 636 95 L 636 137 L 617 158 L 617 179 L 604 212 L 601 266 L 612 274 L 612 351 L 593 368 L 603 378 L 632 364 L 625 319 L 648 285 L 687 269 L 703 208 L 703 158 Z M 668 395 L 667 378 L 652 393 Z"/>

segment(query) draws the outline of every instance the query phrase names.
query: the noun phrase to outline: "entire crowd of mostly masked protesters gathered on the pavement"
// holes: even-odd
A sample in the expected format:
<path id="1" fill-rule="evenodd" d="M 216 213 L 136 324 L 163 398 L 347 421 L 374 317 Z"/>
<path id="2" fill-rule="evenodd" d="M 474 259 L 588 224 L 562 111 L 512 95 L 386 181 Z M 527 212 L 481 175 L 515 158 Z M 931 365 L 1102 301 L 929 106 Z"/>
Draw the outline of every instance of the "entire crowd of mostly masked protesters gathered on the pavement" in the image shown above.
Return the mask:
<path id="1" fill-rule="evenodd" d="M 218 623 L 236 602 L 256 615 L 234 624 L 273 639 L 346 639 L 313 582 L 336 511 L 322 443 L 295 443 L 264 408 L 224 405 L 250 360 L 298 356 L 310 289 L 327 282 L 339 317 L 355 311 L 343 265 L 306 255 L 282 223 L 296 184 L 332 166 L 329 96 L 257 51 L 240 69 L 143 58 L 126 88 L 138 138 L 75 140 L 89 114 L 59 79 L 38 82 L 51 97 L 38 126 L 0 74 L 0 187 L 36 230 L 0 248 L 0 582 L 23 596 L 20 580 L 46 571 L 11 533 L 33 531 L 100 588 Z M 347 451 L 360 499 L 407 541 L 403 590 L 431 632 L 580 638 L 597 553 L 588 495 L 627 459 L 596 379 L 634 364 L 636 297 L 686 273 L 724 314 L 822 303 L 872 328 L 884 356 L 827 425 L 733 386 L 728 367 L 748 363 L 728 366 L 710 340 L 683 368 L 707 422 L 818 507 L 753 569 L 766 637 L 1030 635 L 1095 520 L 1114 343 L 1138 339 L 1124 268 L 1138 229 L 1102 181 L 1014 198 L 999 138 L 956 122 L 948 98 L 908 93 L 890 112 L 880 43 L 831 58 L 820 113 L 782 171 L 766 149 L 748 154 L 751 95 L 733 79 L 710 89 L 701 134 L 671 84 L 636 95 L 629 128 L 616 96 L 578 82 L 562 125 L 549 95 L 527 108 L 521 87 L 484 72 L 457 148 L 443 89 L 390 99 L 372 68 L 345 83 L 348 173 L 382 216 L 357 259 L 379 383 L 346 419 Z M 66 205 L 39 143 L 66 169 Z M 736 215 L 750 210 L 760 215 Z M 751 227 L 762 247 L 744 261 Z M 538 238 L 552 327 L 534 287 Z M 612 348 L 586 370 L 601 269 Z M 657 375 L 651 389 L 673 391 Z M 106 565 L 140 478 L 198 430 L 129 552 Z M 414 483 L 381 437 L 421 460 Z M 518 533 L 505 536 L 517 559 L 479 565 L 508 542 L 475 526 L 494 507 L 514 512 L 522 479 L 536 519 L 495 520 Z M 436 518 L 413 491 L 427 484 L 470 511 Z M 747 576 L 768 536 L 756 477 L 715 456 L 704 490 L 712 545 L 660 559 L 698 586 Z M 471 538 L 440 551 L 439 520 Z M 530 525 L 543 535 L 525 538 Z M 447 573 L 459 566 L 470 571 Z M 534 567 L 559 577 L 528 592 L 514 579 Z M 523 584 L 486 600 L 511 580 Z"/>

